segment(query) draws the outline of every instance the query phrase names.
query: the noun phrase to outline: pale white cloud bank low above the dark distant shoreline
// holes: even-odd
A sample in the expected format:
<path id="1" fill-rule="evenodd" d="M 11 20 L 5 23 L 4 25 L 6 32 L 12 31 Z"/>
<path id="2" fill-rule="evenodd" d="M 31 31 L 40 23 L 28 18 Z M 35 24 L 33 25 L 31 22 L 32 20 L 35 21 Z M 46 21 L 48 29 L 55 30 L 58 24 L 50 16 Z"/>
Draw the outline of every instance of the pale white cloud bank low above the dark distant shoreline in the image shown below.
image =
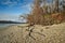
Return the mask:
<path id="1" fill-rule="evenodd" d="M 26 19 L 21 19 L 20 15 L 2 14 L 0 15 L 0 20 L 13 20 L 26 23 Z"/>

